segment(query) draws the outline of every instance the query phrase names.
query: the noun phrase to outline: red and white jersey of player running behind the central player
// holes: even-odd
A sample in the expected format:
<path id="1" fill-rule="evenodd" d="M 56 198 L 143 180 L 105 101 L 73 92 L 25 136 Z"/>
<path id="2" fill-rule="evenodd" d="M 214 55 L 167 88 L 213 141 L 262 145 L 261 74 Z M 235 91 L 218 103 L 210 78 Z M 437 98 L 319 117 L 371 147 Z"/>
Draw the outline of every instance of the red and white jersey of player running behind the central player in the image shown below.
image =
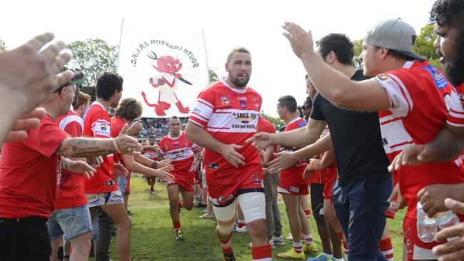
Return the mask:
<path id="1" fill-rule="evenodd" d="M 171 160 L 174 167 L 173 173 L 190 173 L 188 170 L 193 163 L 195 151 L 200 148 L 196 143 L 187 139 L 184 131 L 176 138 L 172 138 L 171 133 L 164 136 L 159 142 L 159 147 L 161 155 Z"/>

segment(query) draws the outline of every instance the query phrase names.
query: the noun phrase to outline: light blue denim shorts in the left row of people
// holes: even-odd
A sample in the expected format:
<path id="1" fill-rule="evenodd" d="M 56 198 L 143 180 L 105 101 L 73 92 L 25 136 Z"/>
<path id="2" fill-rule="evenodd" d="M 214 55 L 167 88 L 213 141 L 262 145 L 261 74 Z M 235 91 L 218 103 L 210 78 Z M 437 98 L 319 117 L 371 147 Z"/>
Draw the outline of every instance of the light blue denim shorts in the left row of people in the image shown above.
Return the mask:
<path id="1" fill-rule="evenodd" d="M 49 227 L 51 240 L 61 237 L 64 233 L 66 233 L 66 237 L 73 239 L 89 232 L 92 230 L 89 205 L 55 210 L 54 213 L 51 213 L 46 225 Z"/>

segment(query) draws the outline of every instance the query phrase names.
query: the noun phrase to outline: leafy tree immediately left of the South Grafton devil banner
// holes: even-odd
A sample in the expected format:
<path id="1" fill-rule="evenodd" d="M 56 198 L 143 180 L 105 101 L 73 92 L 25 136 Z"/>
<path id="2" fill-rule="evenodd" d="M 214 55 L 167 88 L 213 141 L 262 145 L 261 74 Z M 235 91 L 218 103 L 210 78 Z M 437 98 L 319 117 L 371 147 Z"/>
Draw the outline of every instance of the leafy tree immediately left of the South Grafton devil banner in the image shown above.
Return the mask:
<path id="1" fill-rule="evenodd" d="M 101 39 L 86 39 L 74 41 L 68 48 L 73 54 L 71 66 L 86 73 L 90 86 L 95 86 L 96 79 L 104 71 L 116 71 L 118 46 L 111 46 Z"/>

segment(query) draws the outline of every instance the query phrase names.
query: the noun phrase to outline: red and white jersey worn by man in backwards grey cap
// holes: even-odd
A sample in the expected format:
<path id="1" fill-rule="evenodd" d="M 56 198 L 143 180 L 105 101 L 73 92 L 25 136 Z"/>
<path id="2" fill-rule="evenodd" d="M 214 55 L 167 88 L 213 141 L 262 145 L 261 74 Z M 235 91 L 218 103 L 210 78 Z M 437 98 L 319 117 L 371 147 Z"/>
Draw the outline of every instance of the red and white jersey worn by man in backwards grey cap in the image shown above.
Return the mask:
<path id="1" fill-rule="evenodd" d="M 464 127 L 458 94 L 443 73 L 427 61 L 408 61 L 403 68 L 375 77 L 390 96 L 391 108 L 379 111 L 383 146 L 390 160 L 412 144 L 429 143 L 445 123 Z M 398 171 L 400 191 L 415 218 L 417 193 L 430 184 L 464 182 L 460 160 L 404 166 Z"/>

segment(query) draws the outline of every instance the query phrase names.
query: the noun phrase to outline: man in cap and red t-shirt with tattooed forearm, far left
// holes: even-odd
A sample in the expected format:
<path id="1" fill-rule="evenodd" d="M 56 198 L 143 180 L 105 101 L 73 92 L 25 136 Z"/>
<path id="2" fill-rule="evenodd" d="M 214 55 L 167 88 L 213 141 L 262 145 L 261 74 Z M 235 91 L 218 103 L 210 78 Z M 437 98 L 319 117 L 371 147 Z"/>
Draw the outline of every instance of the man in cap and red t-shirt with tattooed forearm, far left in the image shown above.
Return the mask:
<path id="1" fill-rule="evenodd" d="M 39 128 L 29 131 L 23 142 L 6 143 L 1 149 L 0 260 L 49 260 L 46 220 L 54 212 L 61 169 L 88 177 L 96 171 L 84 161 L 67 158 L 140 150 L 137 140 L 126 135 L 128 126 L 117 138 L 106 140 L 70 138 L 61 131 L 54 121 L 68 113 L 74 93 L 76 84 L 61 86 L 41 104 L 47 115 Z"/>

